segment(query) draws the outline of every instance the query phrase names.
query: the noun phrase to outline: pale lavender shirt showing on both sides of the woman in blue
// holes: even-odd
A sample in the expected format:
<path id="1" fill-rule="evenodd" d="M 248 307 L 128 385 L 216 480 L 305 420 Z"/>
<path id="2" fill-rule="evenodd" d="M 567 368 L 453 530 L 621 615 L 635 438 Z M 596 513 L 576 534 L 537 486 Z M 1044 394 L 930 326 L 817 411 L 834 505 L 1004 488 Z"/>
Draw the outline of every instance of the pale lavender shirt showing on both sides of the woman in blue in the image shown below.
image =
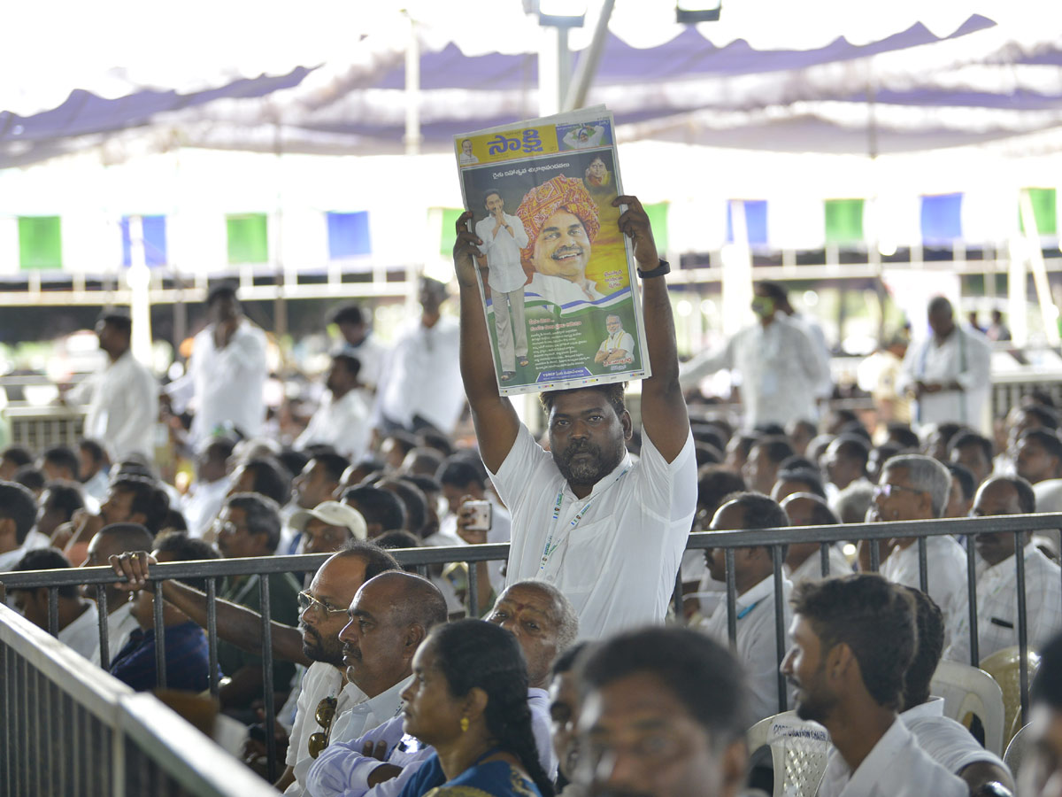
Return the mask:
<path id="1" fill-rule="evenodd" d="M 550 779 L 556 777 L 556 757 L 550 739 L 549 695 L 543 689 L 528 690 L 531 710 L 531 732 L 534 734 L 538 761 Z M 386 763 L 402 767 L 396 778 L 370 787 L 369 776 L 382 762 L 362 754 L 366 743 L 384 742 Z M 402 717 L 389 719 L 360 739 L 329 745 L 310 767 L 306 786 L 313 797 L 394 797 L 421 765 L 434 754 L 430 745 L 421 744 L 402 731 Z"/>

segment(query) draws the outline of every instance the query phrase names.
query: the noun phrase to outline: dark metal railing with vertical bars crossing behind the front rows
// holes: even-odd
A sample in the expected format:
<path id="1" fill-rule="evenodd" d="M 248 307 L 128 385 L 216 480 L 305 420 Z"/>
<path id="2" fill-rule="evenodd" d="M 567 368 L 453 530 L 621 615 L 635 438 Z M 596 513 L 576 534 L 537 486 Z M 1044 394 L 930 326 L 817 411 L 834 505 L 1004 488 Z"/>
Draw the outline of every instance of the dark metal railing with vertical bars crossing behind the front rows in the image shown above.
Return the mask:
<path id="1" fill-rule="evenodd" d="M 737 588 L 734 571 L 734 549 L 752 546 L 767 546 L 772 549 L 774 562 L 773 572 L 773 603 L 774 603 L 774 626 L 775 626 L 775 652 L 777 663 L 786 652 L 785 607 L 783 605 L 783 550 L 784 546 L 801 542 L 820 543 L 820 557 L 822 563 L 822 574 L 830 575 L 828 552 L 829 545 L 837 542 L 855 540 L 889 540 L 893 538 L 917 538 L 919 554 L 920 583 L 923 590 L 928 586 L 928 563 L 926 555 L 926 540 L 930 537 L 944 535 L 969 536 L 971 538 L 980 533 L 1015 532 L 1015 531 L 1037 531 L 1045 529 L 1062 528 L 1062 513 L 1050 514 L 1026 514 L 1026 515 L 1003 515 L 992 518 L 971 518 L 955 520 L 932 520 L 932 521 L 901 521 L 890 523 L 862 523 L 832 526 L 802 526 L 785 527 L 774 529 L 758 529 L 746 531 L 707 531 L 691 533 L 687 543 L 687 548 L 719 548 L 723 550 L 726 571 L 726 598 L 725 607 L 727 612 L 727 631 L 731 643 L 734 644 L 737 637 Z M 1015 552 L 1023 553 L 1020 547 L 1020 537 L 1015 537 Z M 468 569 L 467 593 L 465 596 L 469 614 L 476 615 L 474 607 L 479 603 L 479 579 L 477 578 L 476 563 L 484 561 L 504 560 L 509 555 L 508 543 L 493 543 L 485 545 L 468 545 L 455 547 L 421 547 L 404 548 L 392 550 L 395 558 L 404 566 L 415 566 L 421 575 L 428 575 L 429 565 L 446 564 L 451 562 L 463 562 Z M 880 562 L 877 556 L 877 546 L 870 546 L 871 570 L 878 570 Z M 206 628 L 207 639 L 210 649 L 210 692 L 218 694 L 217 678 L 217 614 L 216 614 L 216 579 L 225 576 L 241 576 L 258 574 L 267 576 L 274 573 L 298 573 L 315 571 L 329 557 L 328 554 L 303 555 L 303 556 L 272 556 L 246 559 L 221 559 L 202 562 L 168 562 L 165 564 L 152 565 L 149 580 L 153 582 L 181 578 L 205 578 L 206 579 Z M 1026 617 L 1025 600 L 1025 558 L 1014 557 L 1016 569 L 1017 587 L 1017 638 L 1021 648 L 1021 690 L 1022 690 L 1022 715 L 1023 719 L 1028 710 L 1028 623 Z M 978 633 L 977 633 L 977 595 L 976 595 L 976 571 L 975 571 L 975 548 L 972 539 L 966 545 L 966 590 L 970 613 L 971 633 L 971 664 L 977 666 L 979 663 Z M 593 566 L 588 564 L 587 566 Z M 836 574 L 833 574 L 836 575 Z M 34 571 L 19 573 L 0 574 L 0 594 L 2 590 L 29 589 L 47 587 L 49 589 L 49 626 L 54 634 L 57 631 L 57 589 L 67 584 L 89 584 L 96 586 L 96 594 L 100 609 L 100 647 L 101 664 L 107 666 L 107 628 L 105 618 L 107 616 L 106 596 L 103 586 L 112 583 L 116 576 L 110 567 L 79 567 L 57 571 Z M 676 622 L 684 622 L 683 591 L 681 576 L 676 576 L 675 590 L 673 594 Z M 272 684 L 272 627 L 270 618 L 269 603 L 269 579 L 259 579 L 259 606 L 261 608 L 261 656 L 263 666 L 262 682 L 263 690 L 266 727 L 272 728 L 275 717 L 275 706 L 273 691 L 269 688 Z M 4 615 L 6 616 L 6 615 Z M 156 669 L 157 680 L 160 685 L 166 683 L 166 664 L 164 649 L 162 628 L 162 601 L 155 601 L 155 638 L 156 645 Z M 2 624 L 0 624 L 2 625 Z M 785 678 L 778 674 L 778 703 L 781 710 L 788 707 L 788 696 Z M 272 733 L 266 734 L 267 753 L 269 760 L 269 777 L 276 778 L 276 749 L 275 740 Z"/>

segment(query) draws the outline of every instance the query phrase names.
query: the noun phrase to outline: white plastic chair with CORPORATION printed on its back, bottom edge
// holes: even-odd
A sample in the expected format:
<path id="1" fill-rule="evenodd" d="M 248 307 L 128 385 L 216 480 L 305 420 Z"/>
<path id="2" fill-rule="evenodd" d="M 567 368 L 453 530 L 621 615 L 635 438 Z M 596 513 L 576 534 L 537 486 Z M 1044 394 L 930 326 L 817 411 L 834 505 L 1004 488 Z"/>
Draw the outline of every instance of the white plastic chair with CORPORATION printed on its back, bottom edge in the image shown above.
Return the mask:
<path id="1" fill-rule="evenodd" d="M 774 797 L 813 797 L 826 771 L 829 733 L 786 711 L 760 719 L 747 734 L 750 753 L 770 746 Z"/>

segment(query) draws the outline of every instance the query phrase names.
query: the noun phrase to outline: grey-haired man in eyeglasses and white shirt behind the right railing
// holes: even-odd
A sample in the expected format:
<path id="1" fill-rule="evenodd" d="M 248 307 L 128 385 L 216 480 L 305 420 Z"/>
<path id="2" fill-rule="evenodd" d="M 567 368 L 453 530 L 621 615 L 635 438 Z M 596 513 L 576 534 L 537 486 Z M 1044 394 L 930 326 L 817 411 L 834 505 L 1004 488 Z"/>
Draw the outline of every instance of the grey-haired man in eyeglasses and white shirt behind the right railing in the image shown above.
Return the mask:
<path id="1" fill-rule="evenodd" d="M 943 518 L 952 474 L 932 457 L 907 454 L 886 460 L 867 512 L 871 523 L 927 521 Z M 918 538 L 889 541 L 892 553 L 881 563 L 890 581 L 921 589 Z M 944 627 L 952 629 L 966 614 L 966 554 L 949 535 L 926 538 L 929 597 L 944 612 Z M 945 640 L 945 647 L 949 640 Z"/>

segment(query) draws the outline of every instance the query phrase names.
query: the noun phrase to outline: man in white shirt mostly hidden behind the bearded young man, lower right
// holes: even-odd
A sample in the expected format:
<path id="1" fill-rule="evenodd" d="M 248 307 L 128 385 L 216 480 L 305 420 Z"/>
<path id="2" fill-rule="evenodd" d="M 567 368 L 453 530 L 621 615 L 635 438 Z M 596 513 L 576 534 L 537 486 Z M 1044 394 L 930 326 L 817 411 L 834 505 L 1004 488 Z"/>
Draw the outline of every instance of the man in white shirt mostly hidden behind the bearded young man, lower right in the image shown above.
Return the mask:
<path id="1" fill-rule="evenodd" d="M 961 723 L 944 716 L 944 698 L 930 697 L 932 680 L 944 645 L 944 616 L 932 598 L 913 587 L 905 588 L 917 606 L 918 646 L 904 677 L 904 712 L 900 718 L 914 734 L 929 758 L 970 786 L 974 795 L 995 794 L 996 783 L 1013 792 L 1013 776 L 998 756 L 989 752 Z"/>

